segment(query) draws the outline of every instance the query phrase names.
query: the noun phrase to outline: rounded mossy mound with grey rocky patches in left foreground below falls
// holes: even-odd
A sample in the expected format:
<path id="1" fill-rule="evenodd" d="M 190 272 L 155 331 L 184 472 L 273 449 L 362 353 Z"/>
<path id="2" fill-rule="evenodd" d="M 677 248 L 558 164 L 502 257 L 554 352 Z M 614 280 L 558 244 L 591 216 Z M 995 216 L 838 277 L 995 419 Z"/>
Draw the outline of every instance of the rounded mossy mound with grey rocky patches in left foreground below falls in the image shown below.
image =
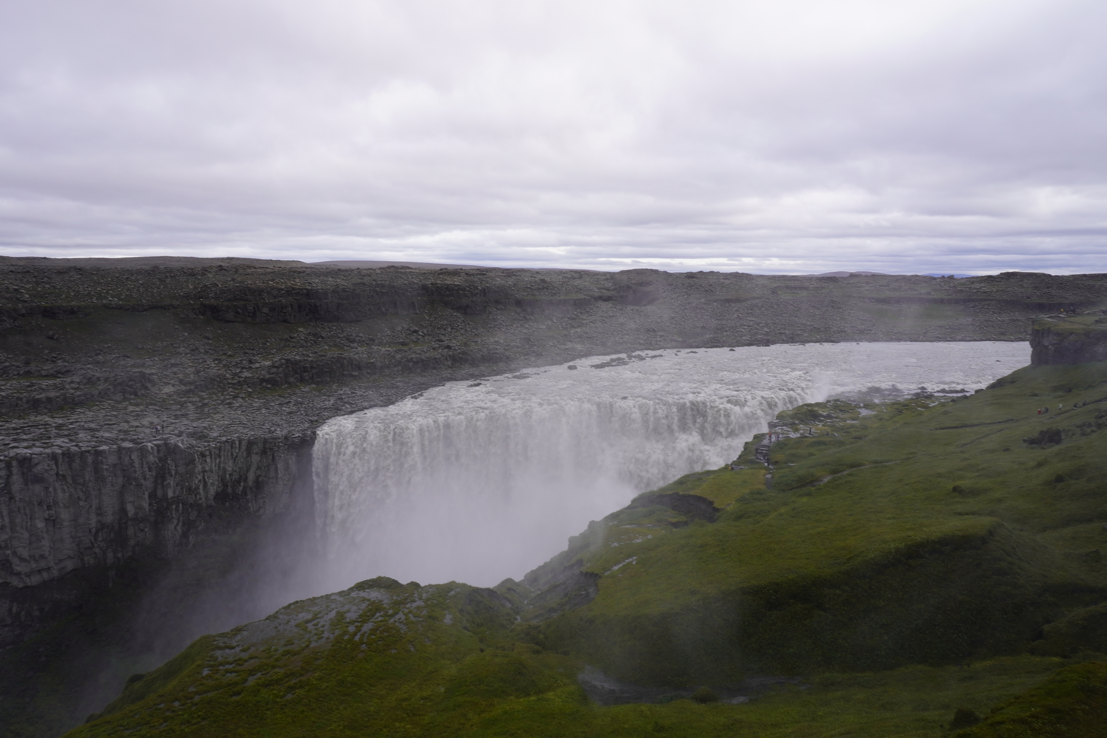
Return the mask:
<path id="1" fill-rule="evenodd" d="M 465 719 L 575 690 L 575 661 L 505 644 L 514 620 L 492 590 L 369 580 L 200 638 L 71 735 L 418 735 L 432 703 Z"/>

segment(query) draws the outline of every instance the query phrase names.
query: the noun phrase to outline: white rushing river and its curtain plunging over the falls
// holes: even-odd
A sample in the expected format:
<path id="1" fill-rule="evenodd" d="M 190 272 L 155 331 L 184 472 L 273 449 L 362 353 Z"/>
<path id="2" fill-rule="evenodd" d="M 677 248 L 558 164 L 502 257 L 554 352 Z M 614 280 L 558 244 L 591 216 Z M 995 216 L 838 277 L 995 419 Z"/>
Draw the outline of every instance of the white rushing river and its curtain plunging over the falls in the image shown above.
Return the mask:
<path id="1" fill-rule="evenodd" d="M 332 418 L 314 449 L 324 589 L 518 578 L 637 492 L 734 459 L 773 416 L 870 386 L 974 389 L 1025 343 L 849 343 L 608 356 L 452 383 Z M 619 357 L 614 357 L 619 364 Z M 625 360 L 625 357 L 624 357 Z"/>

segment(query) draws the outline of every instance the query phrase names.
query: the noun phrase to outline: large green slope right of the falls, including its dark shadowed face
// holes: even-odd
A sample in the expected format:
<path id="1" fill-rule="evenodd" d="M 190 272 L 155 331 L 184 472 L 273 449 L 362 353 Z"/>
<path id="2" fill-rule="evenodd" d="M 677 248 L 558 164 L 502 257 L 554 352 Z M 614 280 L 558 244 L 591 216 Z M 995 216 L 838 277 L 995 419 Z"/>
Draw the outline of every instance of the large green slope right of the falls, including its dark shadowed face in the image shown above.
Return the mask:
<path id="1" fill-rule="evenodd" d="M 1027 367 L 969 398 L 856 419 L 816 408 L 831 419 L 800 418 L 793 430 L 811 435 L 773 446 L 772 489 L 748 468 L 674 486 L 718 499 L 734 475 L 716 522 L 644 539 L 627 511 L 609 518 L 583 555 L 598 595 L 546 623 L 547 641 L 645 684 L 1025 649 L 1107 600 L 1104 368 Z M 1058 443 L 1038 443 L 1043 430 Z"/>

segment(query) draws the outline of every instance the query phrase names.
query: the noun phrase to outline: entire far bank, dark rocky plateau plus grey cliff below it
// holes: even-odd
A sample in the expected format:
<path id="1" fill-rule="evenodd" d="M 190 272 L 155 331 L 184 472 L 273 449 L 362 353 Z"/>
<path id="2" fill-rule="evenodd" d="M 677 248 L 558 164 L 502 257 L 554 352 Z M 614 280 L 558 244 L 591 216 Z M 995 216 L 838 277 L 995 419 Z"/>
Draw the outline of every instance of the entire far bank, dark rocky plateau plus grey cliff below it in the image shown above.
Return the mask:
<path id="1" fill-rule="evenodd" d="M 329 417 L 642 349 L 1023 340 L 1105 279 L 0 258 L 0 647 L 296 509 Z"/>

